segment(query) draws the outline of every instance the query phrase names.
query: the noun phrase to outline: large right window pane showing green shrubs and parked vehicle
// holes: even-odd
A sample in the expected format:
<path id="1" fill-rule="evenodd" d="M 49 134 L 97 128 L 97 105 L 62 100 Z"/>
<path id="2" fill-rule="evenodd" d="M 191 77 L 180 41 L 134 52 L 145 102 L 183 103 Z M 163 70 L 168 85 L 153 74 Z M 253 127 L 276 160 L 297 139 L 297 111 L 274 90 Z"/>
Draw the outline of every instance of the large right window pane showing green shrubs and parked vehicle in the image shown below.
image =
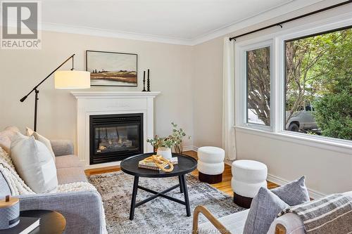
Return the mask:
<path id="1" fill-rule="evenodd" d="M 352 29 L 284 41 L 284 129 L 352 140 Z"/>

